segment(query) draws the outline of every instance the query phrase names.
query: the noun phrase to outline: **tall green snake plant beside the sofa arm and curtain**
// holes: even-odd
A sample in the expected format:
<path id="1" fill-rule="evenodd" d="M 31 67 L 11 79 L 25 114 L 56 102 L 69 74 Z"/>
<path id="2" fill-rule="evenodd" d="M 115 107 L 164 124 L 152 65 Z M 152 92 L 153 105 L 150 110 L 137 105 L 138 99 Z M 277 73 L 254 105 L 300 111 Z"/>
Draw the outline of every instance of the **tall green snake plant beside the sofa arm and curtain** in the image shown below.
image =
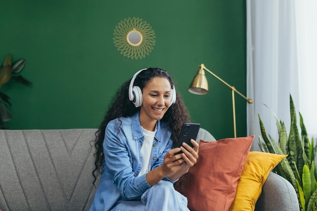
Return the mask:
<path id="1" fill-rule="evenodd" d="M 273 113 L 273 111 L 272 111 Z M 287 179 L 295 188 L 301 211 L 316 211 L 317 208 L 317 167 L 315 163 L 316 145 L 313 137 L 308 139 L 303 117 L 299 112 L 299 125 L 301 135 L 297 127 L 296 111 L 292 96 L 290 95 L 291 126 L 289 135 L 284 122 L 273 113 L 279 133 L 279 141 L 276 142 L 270 135 L 266 135 L 264 124 L 259 116 L 261 136 L 259 146 L 261 151 L 288 154 L 287 159 L 282 159 L 274 168 L 276 174 Z"/>

